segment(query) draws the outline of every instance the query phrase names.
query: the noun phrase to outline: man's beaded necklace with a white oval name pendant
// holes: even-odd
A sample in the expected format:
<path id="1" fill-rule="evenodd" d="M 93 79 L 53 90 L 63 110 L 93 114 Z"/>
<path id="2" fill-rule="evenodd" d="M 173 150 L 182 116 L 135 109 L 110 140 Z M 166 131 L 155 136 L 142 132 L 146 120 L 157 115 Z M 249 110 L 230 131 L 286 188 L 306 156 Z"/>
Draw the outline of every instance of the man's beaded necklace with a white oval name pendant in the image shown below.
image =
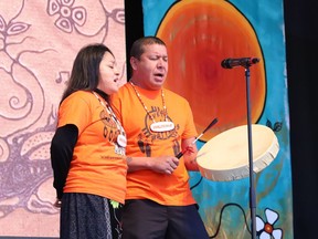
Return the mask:
<path id="1" fill-rule="evenodd" d="M 173 129 L 174 128 L 173 122 L 169 122 L 168 121 L 168 111 L 167 111 L 167 106 L 166 106 L 163 90 L 161 89 L 161 100 L 162 100 L 162 107 L 163 107 L 163 112 L 165 112 L 165 122 L 156 122 L 155 118 L 152 117 L 152 115 L 150 114 L 150 112 L 148 111 L 148 107 L 144 103 L 139 92 L 135 87 L 135 84 L 131 81 L 129 83 L 132 86 L 132 89 L 134 89 L 139 102 L 141 103 L 142 107 L 145 108 L 147 115 L 152 121 L 152 124 L 150 125 L 151 131 L 153 131 L 153 132 L 167 132 L 167 131 Z"/>

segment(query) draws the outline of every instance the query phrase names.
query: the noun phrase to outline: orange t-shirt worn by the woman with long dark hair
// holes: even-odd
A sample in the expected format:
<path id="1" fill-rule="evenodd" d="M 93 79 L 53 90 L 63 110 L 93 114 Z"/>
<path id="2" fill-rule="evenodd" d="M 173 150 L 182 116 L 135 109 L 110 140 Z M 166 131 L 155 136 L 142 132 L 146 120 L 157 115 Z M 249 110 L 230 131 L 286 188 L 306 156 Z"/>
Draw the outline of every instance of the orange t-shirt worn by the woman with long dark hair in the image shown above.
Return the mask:
<path id="1" fill-rule="evenodd" d="M 125 148 L 116 143 L 116 122 L 92 92 L 77 91 L 60 106 L 59 127 L 66 124 L 77 126 L 78 139 L 63 191 L 98 195 L 123 204 L 127 164 Z"/>

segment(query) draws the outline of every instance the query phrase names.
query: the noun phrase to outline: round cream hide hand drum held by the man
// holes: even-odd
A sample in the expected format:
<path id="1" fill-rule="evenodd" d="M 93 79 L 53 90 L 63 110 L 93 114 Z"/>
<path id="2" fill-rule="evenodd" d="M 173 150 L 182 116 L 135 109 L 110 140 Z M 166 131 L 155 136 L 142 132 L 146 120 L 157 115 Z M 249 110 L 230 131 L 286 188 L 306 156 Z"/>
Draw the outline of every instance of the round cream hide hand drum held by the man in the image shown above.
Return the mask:
<path id="1" fill-rule="evenodd" d="M 252 124 L 253 169 L 258 173 L 276 157 L 279 144 L 274 132 Z M 227 129 L 206 142 L 198 152 L 201 175 L 215 181 L 236 180 L 250 175 L 247 125 Z"/>

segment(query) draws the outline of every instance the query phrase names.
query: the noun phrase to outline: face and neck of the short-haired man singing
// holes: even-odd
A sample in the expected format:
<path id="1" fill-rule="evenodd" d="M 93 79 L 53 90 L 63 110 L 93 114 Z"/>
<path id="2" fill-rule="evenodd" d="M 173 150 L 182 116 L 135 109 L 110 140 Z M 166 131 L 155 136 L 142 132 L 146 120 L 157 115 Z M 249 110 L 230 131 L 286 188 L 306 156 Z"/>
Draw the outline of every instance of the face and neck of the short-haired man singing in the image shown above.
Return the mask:
<path id="1" fill-rule="evenodd" d="M 131 58 L 134 69 L 134 81 L 148 90 L 159 90 L 166 81 L 168 73 L 167 48 L 160 44 L 148 44 L 144 46 L 140 60 Z"/>

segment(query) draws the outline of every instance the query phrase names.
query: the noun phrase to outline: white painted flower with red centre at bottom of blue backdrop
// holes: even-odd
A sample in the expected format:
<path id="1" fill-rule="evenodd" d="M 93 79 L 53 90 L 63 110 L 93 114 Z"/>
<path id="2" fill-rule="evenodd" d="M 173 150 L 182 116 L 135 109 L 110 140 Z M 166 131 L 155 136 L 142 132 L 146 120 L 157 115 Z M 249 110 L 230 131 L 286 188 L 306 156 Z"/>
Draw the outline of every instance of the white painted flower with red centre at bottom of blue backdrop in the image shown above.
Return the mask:
<path id="1" fill-rule="evenodd" d="M 256 232 L 259 239 L 280 239 L 283 237 L 283 230 L 280 228 L 274 228 L 275 222 L 278 220 L 279 215 L 269 209 L 265 209 L 266 221 L 256 216 Z"/>

